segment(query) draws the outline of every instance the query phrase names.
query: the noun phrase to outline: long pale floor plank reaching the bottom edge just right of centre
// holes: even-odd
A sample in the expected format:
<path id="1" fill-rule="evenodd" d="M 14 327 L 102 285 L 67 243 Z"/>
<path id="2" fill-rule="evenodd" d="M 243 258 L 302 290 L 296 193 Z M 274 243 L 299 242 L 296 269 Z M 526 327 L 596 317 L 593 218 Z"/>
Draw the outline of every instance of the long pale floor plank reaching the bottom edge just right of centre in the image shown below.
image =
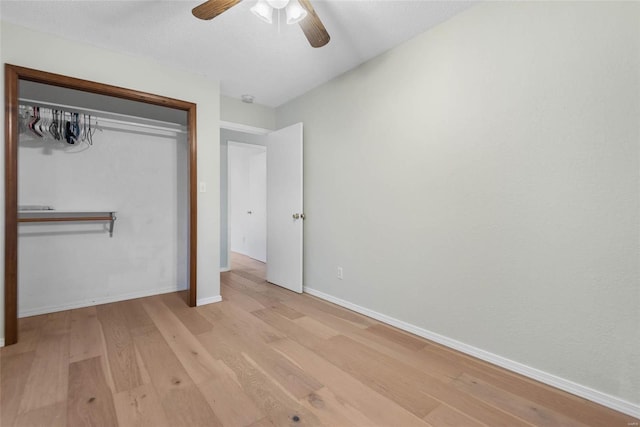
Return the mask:
<path id="1" fill-rule="evenodd" d="M 427 425 L 424 420 L 348 375 L 313 350 L 289 339 L 269 345 L 286 354 L 305 371 L 322 378 L 322 382 L 332 391 L 336 399 L 364 414 L 371 420 L 372 425 L 407 427 Z"/>

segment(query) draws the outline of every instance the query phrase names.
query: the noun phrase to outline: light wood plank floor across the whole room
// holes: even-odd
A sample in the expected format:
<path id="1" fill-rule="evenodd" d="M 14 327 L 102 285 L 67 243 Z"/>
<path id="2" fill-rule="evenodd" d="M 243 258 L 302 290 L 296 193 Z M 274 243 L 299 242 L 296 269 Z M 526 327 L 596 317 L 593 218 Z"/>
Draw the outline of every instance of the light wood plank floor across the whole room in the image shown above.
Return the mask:
<path id="1" fill-rule="evenodd" d="M 234 255 L 224 301 L 167 294 L 20 319 L 9 426 L 620 426 L 638 422 L 308 295 Z"/>

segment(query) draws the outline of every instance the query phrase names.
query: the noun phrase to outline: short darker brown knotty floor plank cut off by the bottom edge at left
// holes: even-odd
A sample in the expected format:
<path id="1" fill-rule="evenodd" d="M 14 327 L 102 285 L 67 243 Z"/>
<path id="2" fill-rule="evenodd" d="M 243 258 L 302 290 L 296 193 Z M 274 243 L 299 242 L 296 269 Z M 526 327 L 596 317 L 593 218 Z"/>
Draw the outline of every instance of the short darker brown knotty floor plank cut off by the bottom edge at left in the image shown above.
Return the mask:
<path id="1" fill-rule="evenodd" d="M 69 365 L 67 422 L 72 426 L 117 426 L 113 395 L 102 370 L 101 357 Z"/>

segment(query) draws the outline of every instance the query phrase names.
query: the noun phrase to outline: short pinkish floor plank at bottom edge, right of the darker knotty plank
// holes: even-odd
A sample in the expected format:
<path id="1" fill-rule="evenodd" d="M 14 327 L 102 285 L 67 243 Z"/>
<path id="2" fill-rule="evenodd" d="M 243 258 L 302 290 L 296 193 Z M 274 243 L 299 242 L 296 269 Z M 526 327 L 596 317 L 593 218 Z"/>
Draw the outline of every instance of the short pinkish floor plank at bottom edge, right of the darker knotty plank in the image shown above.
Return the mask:
<path id="1" fill-rule="evenodd" d="M 151 384 L 117 393 L 113 403 L 120 427 L 170 427 Z"/>

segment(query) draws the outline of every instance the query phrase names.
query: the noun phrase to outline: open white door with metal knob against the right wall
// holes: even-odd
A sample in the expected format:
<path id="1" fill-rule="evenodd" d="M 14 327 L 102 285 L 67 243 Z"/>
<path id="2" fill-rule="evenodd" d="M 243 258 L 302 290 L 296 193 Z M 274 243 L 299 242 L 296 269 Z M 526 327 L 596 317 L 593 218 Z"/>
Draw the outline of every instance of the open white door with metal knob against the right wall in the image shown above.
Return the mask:
<path id="1" fill-rule="evenodd" d="M 302 123 L 267 135 L 267 281 L 302 292 Z"/>

